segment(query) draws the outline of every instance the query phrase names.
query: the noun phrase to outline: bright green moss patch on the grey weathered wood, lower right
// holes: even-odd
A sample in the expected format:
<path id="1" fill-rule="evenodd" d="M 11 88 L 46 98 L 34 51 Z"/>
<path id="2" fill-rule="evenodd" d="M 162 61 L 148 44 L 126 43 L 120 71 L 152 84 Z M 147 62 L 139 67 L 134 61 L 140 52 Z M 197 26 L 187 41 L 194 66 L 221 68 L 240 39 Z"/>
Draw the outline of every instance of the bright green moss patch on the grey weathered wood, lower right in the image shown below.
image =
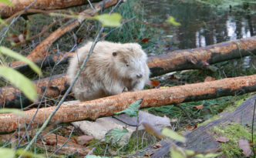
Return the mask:
<path id="1" fill-rule="evenodd" d="M 221 150 L 225 157 L 244 157 L 237 140 L 251 141 L 249 129 L 244 128 L 240 124 L 231 124 L 215 126 L 213 130 L 217 133 L 217 136 L 225 136 L 230 139 L 227 143 L 221 143 Z M 254 138 L 256 138 L 256 134 L 254 134 Z"/>

